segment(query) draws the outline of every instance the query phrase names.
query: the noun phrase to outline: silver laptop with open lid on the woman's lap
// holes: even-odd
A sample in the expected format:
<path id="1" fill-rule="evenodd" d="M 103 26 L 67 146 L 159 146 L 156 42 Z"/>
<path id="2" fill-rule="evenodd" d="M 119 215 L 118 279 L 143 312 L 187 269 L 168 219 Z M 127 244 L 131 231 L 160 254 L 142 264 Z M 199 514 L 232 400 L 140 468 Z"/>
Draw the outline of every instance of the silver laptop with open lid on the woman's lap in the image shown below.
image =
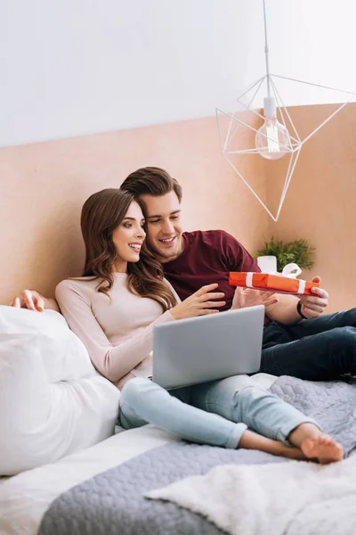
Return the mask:
<path id="1" fill-rule="evenodd" d="M 258 305 L 155 325 L 152 380 L 169 390 L 257 372 L 263 321 Z"/>

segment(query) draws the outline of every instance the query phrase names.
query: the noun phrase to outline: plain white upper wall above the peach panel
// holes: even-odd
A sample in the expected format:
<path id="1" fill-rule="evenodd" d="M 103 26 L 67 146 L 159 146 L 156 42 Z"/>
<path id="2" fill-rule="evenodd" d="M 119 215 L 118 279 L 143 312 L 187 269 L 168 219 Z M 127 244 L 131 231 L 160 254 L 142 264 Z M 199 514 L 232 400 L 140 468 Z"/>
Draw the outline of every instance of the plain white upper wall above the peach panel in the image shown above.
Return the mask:
<path id="1" fill-rule="evenodd" d="M 272 71 L 356 88 L 352 0 L 266 2 Z M 1 0 L 0 36 L 0 146 L 213 115 L 264 71 L 262 0 Z"/>

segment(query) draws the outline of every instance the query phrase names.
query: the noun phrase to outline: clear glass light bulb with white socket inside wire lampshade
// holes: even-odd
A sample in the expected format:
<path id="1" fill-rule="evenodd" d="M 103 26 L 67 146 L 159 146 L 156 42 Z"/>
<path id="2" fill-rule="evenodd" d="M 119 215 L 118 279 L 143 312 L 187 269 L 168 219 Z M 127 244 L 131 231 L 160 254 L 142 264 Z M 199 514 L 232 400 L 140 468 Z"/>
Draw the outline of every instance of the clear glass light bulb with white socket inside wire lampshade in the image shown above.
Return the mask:
<path id="1" fill-rule="evenodd" d="M 287 128 L 277 120 L 276 103 L 273 97 L 263 100 L 264 122 L 255 135 L 255 147 L 267 160 L 279 160 L 292 151 Z"/>

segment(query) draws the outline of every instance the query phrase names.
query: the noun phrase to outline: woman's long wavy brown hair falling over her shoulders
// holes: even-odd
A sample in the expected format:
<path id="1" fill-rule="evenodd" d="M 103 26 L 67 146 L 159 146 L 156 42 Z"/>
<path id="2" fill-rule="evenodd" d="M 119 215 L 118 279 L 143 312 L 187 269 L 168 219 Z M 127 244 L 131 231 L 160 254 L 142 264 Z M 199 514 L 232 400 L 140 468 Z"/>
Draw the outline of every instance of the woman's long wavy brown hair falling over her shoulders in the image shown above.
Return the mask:
<path id="1" fill-rule="evenodd" d="M 112 234 L 123 221 L 134 195 L 119 189 L 108 188 L 93 193 L 85 201 L 81 215 L 82 235 L 85 242 L 85 267 L 83 276 L 97 276 L 103 279 L 97 291 L 109 296 L 114 284 L 112 268 L 117 251 Z M 138 262 L 127 263 L 128 290 L 158 301 L 166 311 L 176 305 L 176 299 L 164 281 L 163 269 L 157 259 L 143 243 Z M 107 283 L 107 284 L 105 284 Z"/>

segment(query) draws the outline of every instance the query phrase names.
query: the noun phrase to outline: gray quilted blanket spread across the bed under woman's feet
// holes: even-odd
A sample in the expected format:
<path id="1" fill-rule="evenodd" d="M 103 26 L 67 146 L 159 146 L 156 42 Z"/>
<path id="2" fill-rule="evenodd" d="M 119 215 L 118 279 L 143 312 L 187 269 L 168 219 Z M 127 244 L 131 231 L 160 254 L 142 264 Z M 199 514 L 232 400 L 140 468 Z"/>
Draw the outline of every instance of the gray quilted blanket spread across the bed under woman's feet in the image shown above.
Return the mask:
<path id="1" fill-rule="evenodd" d="M 284 376 L 270 390 L 317 419 L 344 445 L 346 455 L 356 448 L 356 384 L 311 383 Z M 287 461 L 254 450 L 168 443 L 63 493 L 44 514 L 38 535 L 221 534 L 198 514 L 152 502 L 143 494 L 217 465 L 271 462 Z"/>

